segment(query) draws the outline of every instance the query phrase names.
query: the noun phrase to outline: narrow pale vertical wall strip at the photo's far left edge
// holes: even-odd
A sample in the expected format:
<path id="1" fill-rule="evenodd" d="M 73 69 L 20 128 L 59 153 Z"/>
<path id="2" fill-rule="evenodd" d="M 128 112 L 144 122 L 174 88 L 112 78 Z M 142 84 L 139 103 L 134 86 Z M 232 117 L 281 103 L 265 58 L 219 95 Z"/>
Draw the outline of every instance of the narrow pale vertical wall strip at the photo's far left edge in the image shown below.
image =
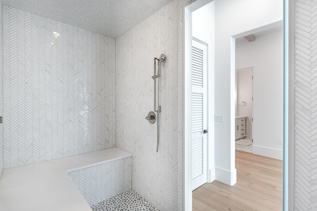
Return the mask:
<path id="1" fill-rule="evenodd" d="M 0 0 L 0 116 L 3 116 L 2 101 L 3 78 L 3 30 L 2 30 L 2 0 Z M 3 162 L 3 124 L 0 124 L 0 178 L 4 167 Z"/>

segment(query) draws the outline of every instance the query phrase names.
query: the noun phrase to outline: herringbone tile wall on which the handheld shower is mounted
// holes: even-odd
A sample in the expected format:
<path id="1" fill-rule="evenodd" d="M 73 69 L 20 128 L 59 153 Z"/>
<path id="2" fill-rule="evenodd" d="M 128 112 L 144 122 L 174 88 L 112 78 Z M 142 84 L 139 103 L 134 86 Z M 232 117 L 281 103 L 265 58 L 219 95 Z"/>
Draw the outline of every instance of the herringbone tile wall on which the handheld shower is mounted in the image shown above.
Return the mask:
<path id="1" fill-rule="evenodd" d="M 160 211 L 182 210 L 182 9 L 173 0 L 116 39 L 117 147 L 133 154 L 132 188 Z M 161 69 L 160 144 L 154 110 L 154 57 Z"/>

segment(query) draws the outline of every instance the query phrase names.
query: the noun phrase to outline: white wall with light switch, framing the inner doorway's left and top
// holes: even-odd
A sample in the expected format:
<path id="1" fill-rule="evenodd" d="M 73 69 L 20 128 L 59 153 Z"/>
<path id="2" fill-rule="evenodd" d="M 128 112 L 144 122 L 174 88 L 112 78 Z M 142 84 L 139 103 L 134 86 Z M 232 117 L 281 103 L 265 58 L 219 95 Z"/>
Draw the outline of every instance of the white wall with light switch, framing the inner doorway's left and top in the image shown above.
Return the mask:
<path id="1" fill-rule="evenodd" d="M 233 175 L 234 158 L 234 64 L 231 37 L 283 20 L 282 0 L 215 0 L 215 115 L 225 122 L 215 122 L 215 167 Z M 232 86 L 231 86 L 232 84 Z M 232 104 L 232 105 L 231 105 Z M 220 176 L 216 179 L 224 183 Z"/>

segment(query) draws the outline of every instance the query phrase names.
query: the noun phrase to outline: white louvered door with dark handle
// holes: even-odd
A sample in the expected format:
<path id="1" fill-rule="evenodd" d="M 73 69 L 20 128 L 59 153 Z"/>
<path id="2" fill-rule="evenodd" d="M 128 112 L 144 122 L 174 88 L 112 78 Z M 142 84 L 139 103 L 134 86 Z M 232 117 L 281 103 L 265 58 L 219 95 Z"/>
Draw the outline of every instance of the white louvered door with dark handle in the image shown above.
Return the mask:
<path id="1" fill-rule="evenodd" d="M 192 189 L 207 182 L 207 45 L 193 39 Z"/>

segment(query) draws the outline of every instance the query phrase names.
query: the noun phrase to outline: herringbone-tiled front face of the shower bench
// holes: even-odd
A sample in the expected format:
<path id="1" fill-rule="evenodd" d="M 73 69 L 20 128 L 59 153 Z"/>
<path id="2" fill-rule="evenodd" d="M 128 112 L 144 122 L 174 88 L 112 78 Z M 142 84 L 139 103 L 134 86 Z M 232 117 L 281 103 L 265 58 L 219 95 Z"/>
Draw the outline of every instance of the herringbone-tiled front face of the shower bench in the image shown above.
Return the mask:
<path id="1" fill-rule="evenodd" d="M 105 164 L 68 173 L 90 206 L 131 189 L 132 158 L 123 158 Z"/>

